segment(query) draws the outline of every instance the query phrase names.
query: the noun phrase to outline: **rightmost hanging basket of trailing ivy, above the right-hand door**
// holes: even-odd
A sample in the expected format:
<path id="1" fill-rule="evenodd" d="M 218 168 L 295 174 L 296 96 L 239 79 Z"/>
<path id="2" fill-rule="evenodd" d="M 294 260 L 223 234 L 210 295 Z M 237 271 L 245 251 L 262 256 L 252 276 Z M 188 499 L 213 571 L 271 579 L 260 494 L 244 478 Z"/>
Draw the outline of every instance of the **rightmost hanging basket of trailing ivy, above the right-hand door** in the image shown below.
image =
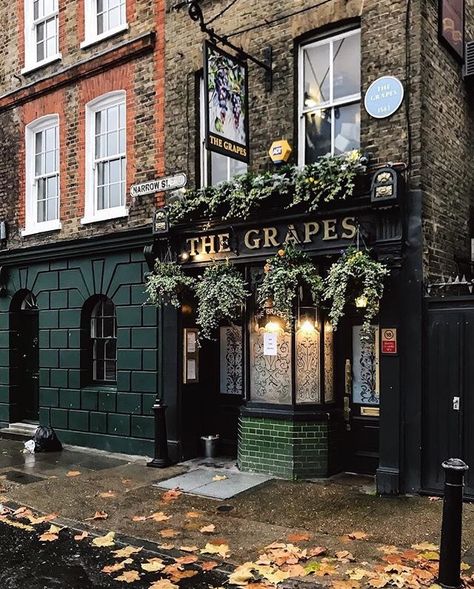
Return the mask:
<path id="1" fill-rule="evenodd" d="M 384 279 L 389 274 L 385 264 L 373 260 L 366 251 L 355 247 L 347 249 L 329 268 L 325 280 L 324 298 L 331 300 L 329 316 L 332 326 L 337 329 L 344 316 L 349 297 L 363 297 L 366 301 L 364 322 L 361 329 L 363 339 L 371 338 L 371 324 L 377 316 L 384 291 Z"/>

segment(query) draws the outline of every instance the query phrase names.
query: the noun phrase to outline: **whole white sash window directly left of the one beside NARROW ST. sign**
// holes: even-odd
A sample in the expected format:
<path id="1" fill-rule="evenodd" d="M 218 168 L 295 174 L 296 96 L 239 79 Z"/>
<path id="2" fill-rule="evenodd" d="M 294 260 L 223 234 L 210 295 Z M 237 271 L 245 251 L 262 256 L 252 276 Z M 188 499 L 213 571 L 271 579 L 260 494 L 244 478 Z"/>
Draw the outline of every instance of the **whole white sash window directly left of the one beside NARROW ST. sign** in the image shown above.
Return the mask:
<path id="1" fill-rule="evenodd" d="M 59 117 L 48 115 L 26 127 L 25 230 L 23 235 L 60 229 Z"/>

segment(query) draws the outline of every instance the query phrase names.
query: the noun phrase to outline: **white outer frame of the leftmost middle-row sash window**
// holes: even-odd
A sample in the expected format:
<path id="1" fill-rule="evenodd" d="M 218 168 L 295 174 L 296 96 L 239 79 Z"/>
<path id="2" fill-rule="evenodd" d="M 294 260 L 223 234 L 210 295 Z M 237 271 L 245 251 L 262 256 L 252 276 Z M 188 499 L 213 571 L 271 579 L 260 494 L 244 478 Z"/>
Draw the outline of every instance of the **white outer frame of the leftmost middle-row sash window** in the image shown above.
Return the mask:
<path id="1" fill-rule="evenodd" d="M 35 177 L 36 134 L 51 127 L 57 127 L 58 133 L 58 218 L 38 222 L 38 198 Z M 59 115 L 51 114 L 36 119 L 25 128 L 25 228 L 21 235 L 33 235 L 45 231 L 61 229 L 61 137 L 59 133 Z"/>

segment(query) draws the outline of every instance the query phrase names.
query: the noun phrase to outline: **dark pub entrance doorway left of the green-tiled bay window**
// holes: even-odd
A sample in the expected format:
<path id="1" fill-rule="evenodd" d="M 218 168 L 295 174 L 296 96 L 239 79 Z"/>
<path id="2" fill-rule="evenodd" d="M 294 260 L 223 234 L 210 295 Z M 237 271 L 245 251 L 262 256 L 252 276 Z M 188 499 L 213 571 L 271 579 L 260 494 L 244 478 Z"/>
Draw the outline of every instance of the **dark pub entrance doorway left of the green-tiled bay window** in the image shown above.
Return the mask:
<path id="1" fill-rule="evenodd" d="M 182 443 L 184 458 L 203 455 L 201 436 L 219 435 L 218 454 L 237 456 L 243 400 L 243 330 L 221 326 L 215 340 L 198 341 L 192 308 L 182 313 Z M 186 312 L 187 311 L 187 312 Z"/>

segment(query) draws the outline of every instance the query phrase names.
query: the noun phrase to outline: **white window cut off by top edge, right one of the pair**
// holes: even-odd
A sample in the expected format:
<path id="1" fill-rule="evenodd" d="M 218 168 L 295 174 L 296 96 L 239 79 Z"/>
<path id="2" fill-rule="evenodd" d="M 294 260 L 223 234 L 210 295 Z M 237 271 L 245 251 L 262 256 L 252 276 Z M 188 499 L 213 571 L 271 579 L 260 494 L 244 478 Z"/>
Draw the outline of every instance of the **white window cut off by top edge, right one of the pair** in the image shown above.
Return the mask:
<path id="1" fill-rule="evenodd" d="M 126 30 L 126 0 L 85 0 L 86 38 L 81 47 Z"/>

